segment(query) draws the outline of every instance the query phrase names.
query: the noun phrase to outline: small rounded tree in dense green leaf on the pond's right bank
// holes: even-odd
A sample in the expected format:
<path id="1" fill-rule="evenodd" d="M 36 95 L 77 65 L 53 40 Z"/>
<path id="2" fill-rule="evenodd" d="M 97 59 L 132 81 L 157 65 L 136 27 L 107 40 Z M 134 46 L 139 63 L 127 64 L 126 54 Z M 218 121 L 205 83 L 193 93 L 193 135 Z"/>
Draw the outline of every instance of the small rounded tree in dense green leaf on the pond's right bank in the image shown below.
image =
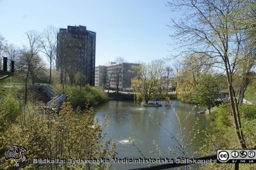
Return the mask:
<path id="1" fill-rule="evenodd" d="M 198 84 L 195 86 L 193 100 L 204 108 L 209 110 L 214 106 L 214 101 L 219 96 L 218 84 L 211 74 L 203 74 L 198 79 Z"/>

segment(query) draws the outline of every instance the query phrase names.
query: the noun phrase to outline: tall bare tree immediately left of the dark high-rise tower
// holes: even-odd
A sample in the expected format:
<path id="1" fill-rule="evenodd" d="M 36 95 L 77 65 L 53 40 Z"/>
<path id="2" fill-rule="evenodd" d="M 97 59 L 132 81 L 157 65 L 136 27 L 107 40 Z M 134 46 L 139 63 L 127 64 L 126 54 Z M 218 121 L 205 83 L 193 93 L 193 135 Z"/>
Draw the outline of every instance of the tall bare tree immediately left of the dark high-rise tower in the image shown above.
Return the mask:
<path id="1" fill-rule="evenodd" d="M 41 52 L 47 57 L 50 64 L 50 75 L 48 83 L 51 84 L 52 77 L 52 62 L 56 59 L 57 32 L 55 27 L 49 26 L 42 32 L 40 39 L 42 50 Z"/>

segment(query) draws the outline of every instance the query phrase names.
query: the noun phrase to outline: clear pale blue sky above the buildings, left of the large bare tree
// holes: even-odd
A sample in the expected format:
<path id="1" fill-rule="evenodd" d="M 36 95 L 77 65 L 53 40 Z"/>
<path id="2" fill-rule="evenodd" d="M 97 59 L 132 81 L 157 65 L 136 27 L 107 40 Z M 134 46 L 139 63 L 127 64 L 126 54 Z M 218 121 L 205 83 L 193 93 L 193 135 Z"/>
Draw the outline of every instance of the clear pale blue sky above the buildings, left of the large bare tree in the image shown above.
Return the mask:
<path id="1" fill-rule="evenodd" d="M 24 32 L 48 25 L 85 25 L 97 32 L 96 65 L 124 57 L 149 62 L 170 55 L 167 0 L 0 0 L 0 34 L 8 43 L 26 43 Z"/>

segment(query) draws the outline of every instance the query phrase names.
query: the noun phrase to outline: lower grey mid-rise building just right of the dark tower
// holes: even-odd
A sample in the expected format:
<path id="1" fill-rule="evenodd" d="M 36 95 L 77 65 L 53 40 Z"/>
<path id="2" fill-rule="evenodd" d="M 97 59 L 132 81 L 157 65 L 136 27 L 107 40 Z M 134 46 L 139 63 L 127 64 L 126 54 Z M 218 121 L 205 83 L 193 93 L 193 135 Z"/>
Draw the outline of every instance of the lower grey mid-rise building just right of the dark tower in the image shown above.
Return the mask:
<path id="1" fill-rule="evenodd" d="M 131 79 L 136 76 L 136 72 L 132 67 L 139 66 L 140 64 L 123 62 L 116 64 L 111 62 L 109 66 L 98 66 L 95 70 L 95 87 L 100 89 L 116 90 L 116 83 L 118 82 L 119 90 L 128 90 L 131 87 Z"/>

